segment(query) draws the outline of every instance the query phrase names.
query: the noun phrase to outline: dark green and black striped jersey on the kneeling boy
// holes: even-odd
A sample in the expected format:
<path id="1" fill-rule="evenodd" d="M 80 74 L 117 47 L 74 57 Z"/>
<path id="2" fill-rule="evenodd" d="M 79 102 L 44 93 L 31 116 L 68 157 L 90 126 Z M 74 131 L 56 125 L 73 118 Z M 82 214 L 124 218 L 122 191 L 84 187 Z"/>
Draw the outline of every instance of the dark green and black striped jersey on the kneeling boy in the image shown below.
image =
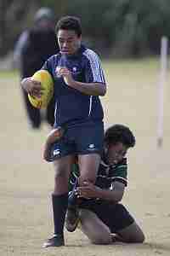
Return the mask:
<path id="1" fill-rule="evenodd" d="M 69 179 L 70 190 L 76 182 L 77 177 L 79 177 L 79 169 L 78 165 L 75 164 L 72 166 L 72 172 Z M 101 189 L 111 189 L 111 186 L 115 181 L 127 186 L 127 158 L 123 158 L 120 163 L 110 166 L 101 160 L 95 185 Z"/>

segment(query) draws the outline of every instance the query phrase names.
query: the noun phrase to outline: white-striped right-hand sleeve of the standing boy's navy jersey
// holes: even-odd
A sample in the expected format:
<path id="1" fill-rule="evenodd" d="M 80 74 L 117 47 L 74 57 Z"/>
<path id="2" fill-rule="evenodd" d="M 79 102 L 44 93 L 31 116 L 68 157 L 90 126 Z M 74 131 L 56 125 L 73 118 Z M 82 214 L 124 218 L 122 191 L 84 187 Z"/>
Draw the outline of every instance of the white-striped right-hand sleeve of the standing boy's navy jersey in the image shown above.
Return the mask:
<path id="1" fill-rule="evenodd" d="M 86 49 L 83 53 L 87 61 L 85 61 L 85 79 L 87 83 L 105 84 L 105 74 L 99 56 L 91 49 Z"/>

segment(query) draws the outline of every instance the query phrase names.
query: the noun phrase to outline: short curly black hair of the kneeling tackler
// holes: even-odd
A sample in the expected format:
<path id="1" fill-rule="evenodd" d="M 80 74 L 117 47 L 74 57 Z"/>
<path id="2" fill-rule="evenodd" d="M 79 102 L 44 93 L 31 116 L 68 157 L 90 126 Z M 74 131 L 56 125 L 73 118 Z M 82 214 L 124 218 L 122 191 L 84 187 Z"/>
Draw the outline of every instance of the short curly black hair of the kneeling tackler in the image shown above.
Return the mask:
<path id="1" fill-rule="evenodd" d="M 133 132 L 126 125 L 112 125 L 105 131 L 105 144 L 111 145 L 116 143 L 122 143 L 127 148 L 133 148 L 136 139 L 133 136 Z"/>

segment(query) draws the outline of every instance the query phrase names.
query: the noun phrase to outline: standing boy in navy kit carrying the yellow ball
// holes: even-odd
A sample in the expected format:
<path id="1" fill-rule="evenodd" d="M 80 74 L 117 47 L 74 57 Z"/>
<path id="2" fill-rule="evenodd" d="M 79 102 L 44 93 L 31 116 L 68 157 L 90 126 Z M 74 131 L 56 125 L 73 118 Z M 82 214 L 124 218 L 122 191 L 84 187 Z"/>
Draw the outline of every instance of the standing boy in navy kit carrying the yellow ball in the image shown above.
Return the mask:
<path id="1" fill-rule="evenodd" d="M 75 155 L 78 156 L 80 184 L 95 182 L 103 148 L 103 108 L 99 96 L 106 92 L 105 76 L 99 56 L 84 47 L 80 20 L 61 18 L 55 32 L 60 52 L 43 65 L 54 79 L 55 123 L 62 135 L 52 144 L 48 160 L 54 161 L 54 236 L 44 247 L 62 246 L 65 212 L 68 204 L 68 179 Z M 40 43 L 41 44 L 41 43 Z M 23 79 L 22 87 L 33 96 L 41 96 L 41 83 Z M 58 129 L 59 128 L 59 129 Z"/>

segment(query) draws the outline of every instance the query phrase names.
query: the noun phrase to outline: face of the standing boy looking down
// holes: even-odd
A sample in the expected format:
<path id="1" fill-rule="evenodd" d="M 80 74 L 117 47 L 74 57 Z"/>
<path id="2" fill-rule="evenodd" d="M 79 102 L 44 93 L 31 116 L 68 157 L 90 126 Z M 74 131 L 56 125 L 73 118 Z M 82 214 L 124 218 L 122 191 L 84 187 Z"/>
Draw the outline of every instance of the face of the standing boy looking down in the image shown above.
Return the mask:
<path id="1" fill-rule="evenodd" d="M 59 29 L 57 38 L 61 54 L 73 55 L 80 48 L 82 37 L 73 30 Z"/>

